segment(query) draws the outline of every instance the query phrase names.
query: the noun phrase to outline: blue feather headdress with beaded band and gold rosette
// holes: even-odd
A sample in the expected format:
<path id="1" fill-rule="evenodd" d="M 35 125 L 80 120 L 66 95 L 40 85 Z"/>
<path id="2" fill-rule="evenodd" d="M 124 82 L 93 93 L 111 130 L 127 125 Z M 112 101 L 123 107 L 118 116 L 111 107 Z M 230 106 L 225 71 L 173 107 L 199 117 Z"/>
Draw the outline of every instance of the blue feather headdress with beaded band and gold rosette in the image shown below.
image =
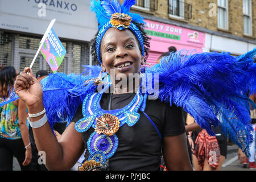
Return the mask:
<path id="1" fill-rule="evenodd" d="M 98 20 L 98 35 L 96 41 L 96 52 L 98 61 L 100 59 L 100 45 L 103 36 L 109 28 L 115 27 L 119 30 L 129 28 L 137 36 L 142 48 L 142 56 L 144 56 L 143 36 L 135 23 L 145 23 L 143 18 L 138 14 L 130 13 L 130 8 L 136 3 L 136 0 L 125 0 L 122 5 L 119 0 L 92 0 L 90 9 L 96 14 Z"/>

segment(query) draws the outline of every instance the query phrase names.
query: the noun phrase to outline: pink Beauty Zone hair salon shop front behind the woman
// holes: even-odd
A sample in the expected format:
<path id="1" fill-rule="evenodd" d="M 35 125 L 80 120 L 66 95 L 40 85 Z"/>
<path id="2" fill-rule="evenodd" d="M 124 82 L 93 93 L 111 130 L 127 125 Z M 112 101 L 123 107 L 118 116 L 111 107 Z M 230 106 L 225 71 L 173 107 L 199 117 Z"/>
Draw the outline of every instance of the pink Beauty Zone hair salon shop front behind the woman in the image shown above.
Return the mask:
<path id="1" fill-rule="evenodd" d="M 144 20 L 146 32 L 150 36 L 150 52 L 147 63 L 156 64 L 162 53 L 168 52 L 168 47 L 174 46 L 177 51 L 181 49 L 202 52 L 205 45 L 205 33 L 172 24 Z"/>

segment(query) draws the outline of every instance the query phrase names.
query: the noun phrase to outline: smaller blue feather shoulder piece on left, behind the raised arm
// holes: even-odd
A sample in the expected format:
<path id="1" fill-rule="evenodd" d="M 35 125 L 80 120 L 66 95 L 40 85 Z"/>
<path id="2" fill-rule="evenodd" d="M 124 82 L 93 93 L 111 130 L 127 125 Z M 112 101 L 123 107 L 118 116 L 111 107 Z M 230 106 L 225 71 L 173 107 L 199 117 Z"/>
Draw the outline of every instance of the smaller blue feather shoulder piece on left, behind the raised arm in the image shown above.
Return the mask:
<path id="1" fill-rule="evenodd" d="M 94 69 L 95 68 L 95 69 Z M 82 104 L 88 93 L 95 92 L 97 86 L 93 79 L 98 75 L 98 67 L 86 67 L 85 71 L 90 69 L 87 76 L 64 73 L 51 73 L 41 81 L 43 89 L 43 104 L 46 108 L 46 114 L 49 125 L 53 131 L 53 125 L 56 122 L 70 122 L 76 113 L 77 108 Z M 17 100 L 19 97 L 12 90 L 10 97 L 0 104 L 3 106 Z"/>

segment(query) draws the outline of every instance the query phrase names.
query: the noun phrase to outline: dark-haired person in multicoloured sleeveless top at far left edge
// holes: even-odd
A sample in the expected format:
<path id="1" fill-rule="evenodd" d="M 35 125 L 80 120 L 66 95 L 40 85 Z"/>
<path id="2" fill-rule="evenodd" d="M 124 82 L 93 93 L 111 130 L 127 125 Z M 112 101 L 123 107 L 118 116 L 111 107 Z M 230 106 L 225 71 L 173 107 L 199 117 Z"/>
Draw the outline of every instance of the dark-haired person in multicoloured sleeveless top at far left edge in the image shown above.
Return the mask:
<path id="1" fill-rule="evenodd" d="M 0 71 L 0 99 L 10 96 L 18 72 L 14 67 Z M 27 111 L 22 100 L 10 102 L 0 109 L 0 171 L 13 171 L 13 158 L 22 171 L 31 170 L 31 143 L 28 137 Z"/>

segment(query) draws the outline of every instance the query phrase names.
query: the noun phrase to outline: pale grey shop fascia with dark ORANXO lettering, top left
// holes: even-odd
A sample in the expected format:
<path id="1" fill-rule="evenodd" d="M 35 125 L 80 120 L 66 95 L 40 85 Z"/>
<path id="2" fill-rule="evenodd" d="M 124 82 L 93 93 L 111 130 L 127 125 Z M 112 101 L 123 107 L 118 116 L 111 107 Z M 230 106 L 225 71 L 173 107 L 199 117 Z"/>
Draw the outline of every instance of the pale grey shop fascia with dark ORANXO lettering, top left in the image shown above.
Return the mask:
<path id="1" fill-rule="evenodd" d="M 38 14 L 42 12 L 38 7 L 42 2 L 46 3 L 45 16 Z M 89 41 L 98 26 L 89 3 L 88 0 L 0 0 L 0 28 L 43 35 L 49 22 L 56 18 L 53 29 L 60 38 Z"/>

